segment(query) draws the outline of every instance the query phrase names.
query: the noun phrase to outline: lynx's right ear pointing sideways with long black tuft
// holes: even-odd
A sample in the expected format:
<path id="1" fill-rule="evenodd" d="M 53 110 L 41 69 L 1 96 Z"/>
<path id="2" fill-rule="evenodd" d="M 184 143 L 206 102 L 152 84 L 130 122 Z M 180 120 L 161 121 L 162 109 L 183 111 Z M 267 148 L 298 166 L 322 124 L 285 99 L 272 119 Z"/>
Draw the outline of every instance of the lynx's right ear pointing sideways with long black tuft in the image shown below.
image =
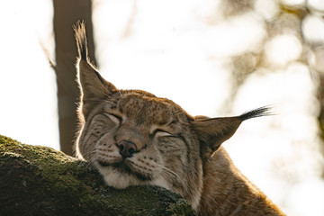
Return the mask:
<path id="1" fill-rule="evenodd" d="M 245 112 L 235 117 L 206 118 L 198 117 L 192 122 L 193 130 L 200 141 L 201 157 L 208 159 L 220 148 L 221 143 L 229 139 L 242 121 L 270 114 L 268 107 Z"/>

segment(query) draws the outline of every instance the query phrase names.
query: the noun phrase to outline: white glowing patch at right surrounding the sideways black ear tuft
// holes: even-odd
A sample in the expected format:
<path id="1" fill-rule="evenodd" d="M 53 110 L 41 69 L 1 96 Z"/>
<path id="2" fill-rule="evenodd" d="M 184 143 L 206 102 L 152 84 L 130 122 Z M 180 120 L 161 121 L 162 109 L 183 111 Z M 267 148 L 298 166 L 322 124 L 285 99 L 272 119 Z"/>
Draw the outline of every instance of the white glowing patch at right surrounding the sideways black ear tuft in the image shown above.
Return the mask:
<path id="1" fill-rule="evenodd" d="M 288 215 L 305 215 L 304 208 L 314 205 L 309 196 L 294 197 L 296 191 L 304 190 L 310 182 L 319 183 L 319 188 L 323 185 L 320 131 L 318 122 L 311 118 L 319 112 L 316 89 L 308 67 L 294 63 L 286 70 L 259 71 L 250 76 L 234 104 L 236 112 L 259 103 L 275 106 L 275 116 L 244 122 L 225 147 L 238 168 L 281 203 Z M 320 191 L 312 193 L 322 196 Z M 322 211 L 311 215 L 321 215 Z"/>

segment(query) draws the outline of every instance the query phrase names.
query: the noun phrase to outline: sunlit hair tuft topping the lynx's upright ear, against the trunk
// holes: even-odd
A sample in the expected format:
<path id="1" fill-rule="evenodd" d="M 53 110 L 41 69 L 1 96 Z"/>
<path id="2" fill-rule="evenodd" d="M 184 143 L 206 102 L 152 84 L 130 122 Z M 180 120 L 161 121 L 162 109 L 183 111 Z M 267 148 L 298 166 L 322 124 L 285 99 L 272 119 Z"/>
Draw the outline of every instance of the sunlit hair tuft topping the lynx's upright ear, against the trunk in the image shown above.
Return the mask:
<path id="1" fill-rule="evenodd" d="M 85 35 L 85 21 L 77 21 L 73 26 L 76 37 L 76 47 L 79 58 L 88 61 L 88 50 Z"/>

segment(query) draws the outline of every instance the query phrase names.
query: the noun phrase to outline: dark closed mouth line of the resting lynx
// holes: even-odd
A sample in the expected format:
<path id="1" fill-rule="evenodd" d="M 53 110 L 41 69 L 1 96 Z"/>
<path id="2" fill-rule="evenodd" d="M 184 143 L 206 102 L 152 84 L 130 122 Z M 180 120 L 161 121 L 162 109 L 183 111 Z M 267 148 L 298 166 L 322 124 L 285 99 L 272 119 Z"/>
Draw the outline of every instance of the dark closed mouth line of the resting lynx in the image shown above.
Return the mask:
<path id="1" fill-rule="evenodd" d="M 103 167 L 112 167 L 112 170 L 117 171 L 121 174 L 135 175 L 136 177 L 139 178 L 139 180 L 142 180 L 142 181 L 152 180 L 151 175 L 141 173 L 140 170 L 136 170 L 135 168 L 132 169 L 129 165 L 127 165 L 127 162 L 125 160 L 123 160 L 122 162 L 113 163 L 113 164 L 110 164 L 103 160 L 98 160 L 97 163 Z M 130 163 L 130 165 L 131 165 L 131 163 Z"/>

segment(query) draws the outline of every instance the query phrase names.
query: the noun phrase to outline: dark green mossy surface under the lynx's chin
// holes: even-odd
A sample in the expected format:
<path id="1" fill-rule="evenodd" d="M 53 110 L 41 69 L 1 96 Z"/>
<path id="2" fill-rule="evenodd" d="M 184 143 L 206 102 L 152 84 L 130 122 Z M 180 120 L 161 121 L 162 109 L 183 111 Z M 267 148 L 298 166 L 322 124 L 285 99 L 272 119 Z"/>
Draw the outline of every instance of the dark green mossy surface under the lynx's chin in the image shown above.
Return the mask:
<path id="1" fill-rule="evenodd" d="M 116 190 L 86 162 L 0 135 L 0 215 L 194 215 L 157 186 Z"/>

